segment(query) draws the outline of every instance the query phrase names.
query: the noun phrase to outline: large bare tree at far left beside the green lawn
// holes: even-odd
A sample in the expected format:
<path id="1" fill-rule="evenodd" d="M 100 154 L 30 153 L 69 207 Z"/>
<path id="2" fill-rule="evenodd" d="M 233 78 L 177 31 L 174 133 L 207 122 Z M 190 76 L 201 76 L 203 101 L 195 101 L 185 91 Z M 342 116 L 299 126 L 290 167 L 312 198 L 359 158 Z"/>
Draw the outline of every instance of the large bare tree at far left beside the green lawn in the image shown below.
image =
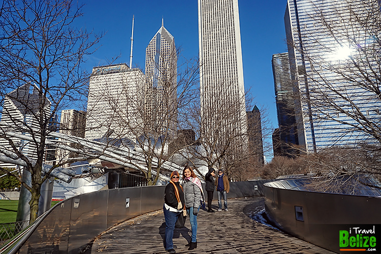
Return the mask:
<path id="1" fill-rule="evenodd" d="M 17 177 L 31 193 L 30 223 L 37 217 L 40 188 L 49 175 L 42 173 L 42 165 L 47 137 L 56 131 L 54 115 L 85 99 L 88 74 L 81 63 L 100 39 L 74 27 L 81 7 L 70 0 L 5 0 L 0 10 L 0 152 L 26 164 L 31 184 L 4 167 L 1 171 Z"/>

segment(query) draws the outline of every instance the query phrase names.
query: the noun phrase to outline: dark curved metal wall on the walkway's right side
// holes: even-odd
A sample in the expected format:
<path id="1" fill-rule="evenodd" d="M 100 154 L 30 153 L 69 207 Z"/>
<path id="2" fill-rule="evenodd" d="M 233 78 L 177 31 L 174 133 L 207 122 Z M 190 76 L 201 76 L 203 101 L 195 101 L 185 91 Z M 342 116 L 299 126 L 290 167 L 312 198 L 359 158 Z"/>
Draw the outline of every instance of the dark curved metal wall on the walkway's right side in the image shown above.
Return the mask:
<path id="1" fill-rule="evenodd" d="M 351 196 L 265 186 L 268 217 L 283 231 L 323 248 L 339 252 L 340 225 L 381 224 L 380 197 Z M 303 207 L 304 221 L 295 217 Z"/>

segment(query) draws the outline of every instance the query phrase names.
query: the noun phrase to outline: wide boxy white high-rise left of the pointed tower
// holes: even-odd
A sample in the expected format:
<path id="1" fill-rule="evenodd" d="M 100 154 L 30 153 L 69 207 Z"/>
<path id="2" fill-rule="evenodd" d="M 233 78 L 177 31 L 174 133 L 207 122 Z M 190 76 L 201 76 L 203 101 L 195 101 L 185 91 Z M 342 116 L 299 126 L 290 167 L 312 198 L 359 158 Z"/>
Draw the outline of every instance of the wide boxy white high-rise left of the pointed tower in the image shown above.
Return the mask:
<path id="1" fill-rule="evenodd" d="M 141 123 L 137 114 L 142 105 L 144 74 L 125 63 L 95 67 L 89 82 L 86 132 L 89 140 L 134 139 L 131 129 Z"/>

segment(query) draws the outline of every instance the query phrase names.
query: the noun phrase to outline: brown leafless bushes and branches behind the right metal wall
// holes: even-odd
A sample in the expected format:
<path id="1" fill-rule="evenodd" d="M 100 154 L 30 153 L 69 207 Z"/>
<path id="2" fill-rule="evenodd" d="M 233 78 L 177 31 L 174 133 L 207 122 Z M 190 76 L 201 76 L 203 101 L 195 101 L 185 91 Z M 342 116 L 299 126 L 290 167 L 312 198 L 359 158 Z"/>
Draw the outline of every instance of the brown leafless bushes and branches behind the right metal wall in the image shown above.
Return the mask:
<path id="1" fill-rule="evenodd" d="M 381 188 L 379 151 L 367 149 L 330 147 L 317 153 L 298 157 L 275 156 L 271 163 L 261 168 L 261 177 L 275 179 L 285 175 L 311 177 L 301 182 L 314 192 L 363 195 Z M 365 189 L 365 192 L 364 192 Z"/>

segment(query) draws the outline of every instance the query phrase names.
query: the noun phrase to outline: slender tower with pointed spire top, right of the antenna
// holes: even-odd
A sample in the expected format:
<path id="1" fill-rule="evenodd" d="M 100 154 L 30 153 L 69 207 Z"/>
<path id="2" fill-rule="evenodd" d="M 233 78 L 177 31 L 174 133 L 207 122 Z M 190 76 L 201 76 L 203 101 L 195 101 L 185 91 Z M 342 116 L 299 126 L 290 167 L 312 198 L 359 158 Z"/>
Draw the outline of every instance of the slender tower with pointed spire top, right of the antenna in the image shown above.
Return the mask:
<path id="1" fill-rule="evenodd" d="M 148 89 L 145 107 L 152 126 L 161 126 L 163 132 L 169 127 L 170 132 L 175 133 L 176 119 L 168 119 L 168 116 L 177 117 L 173 114 L 177 96 L 177 52 L 173 36 L 164 27 L 164 19 L 146 48 L 145 75 Z"/>

